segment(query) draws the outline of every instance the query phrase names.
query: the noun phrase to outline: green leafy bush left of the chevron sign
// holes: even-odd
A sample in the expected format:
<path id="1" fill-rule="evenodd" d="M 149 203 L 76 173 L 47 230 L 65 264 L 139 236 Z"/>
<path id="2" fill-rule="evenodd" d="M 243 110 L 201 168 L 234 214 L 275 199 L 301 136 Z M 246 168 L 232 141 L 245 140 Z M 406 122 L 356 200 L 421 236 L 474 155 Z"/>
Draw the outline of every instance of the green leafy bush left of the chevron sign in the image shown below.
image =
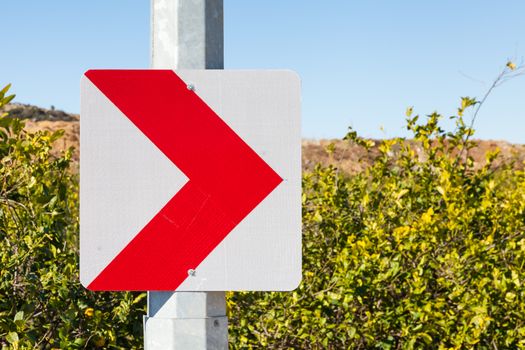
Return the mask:
<path id="1" fill-rule="evenodd" d="M 51 155 L 61 134 L 0 118 L 0 346 L 141 347 L 144 294 L 79 284 L 78 180 L 70 151 Z"/>

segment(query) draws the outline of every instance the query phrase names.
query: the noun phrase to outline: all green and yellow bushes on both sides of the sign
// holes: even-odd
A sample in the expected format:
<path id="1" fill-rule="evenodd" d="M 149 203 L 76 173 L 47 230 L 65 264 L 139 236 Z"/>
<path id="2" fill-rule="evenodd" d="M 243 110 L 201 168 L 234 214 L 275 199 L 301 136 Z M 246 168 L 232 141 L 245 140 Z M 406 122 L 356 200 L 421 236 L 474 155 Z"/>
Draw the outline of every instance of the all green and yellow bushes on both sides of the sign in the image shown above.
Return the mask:
<path id="1" fill-rule="evenodd" d="M 18 116 L 0 119 L 0 346 L 141 348 L 145 294 L 78 281 L 78 153 L 11 96 L 0 92 Z M 409 108 L 410 140 L 349 130 L 318 144 L 321 162 L 304 162 L 303 282 L 229 293 L 230 347 L 525 348 L 523 147 L 480 156 L 482 101 L 461 98 L 454 130 Z"/>

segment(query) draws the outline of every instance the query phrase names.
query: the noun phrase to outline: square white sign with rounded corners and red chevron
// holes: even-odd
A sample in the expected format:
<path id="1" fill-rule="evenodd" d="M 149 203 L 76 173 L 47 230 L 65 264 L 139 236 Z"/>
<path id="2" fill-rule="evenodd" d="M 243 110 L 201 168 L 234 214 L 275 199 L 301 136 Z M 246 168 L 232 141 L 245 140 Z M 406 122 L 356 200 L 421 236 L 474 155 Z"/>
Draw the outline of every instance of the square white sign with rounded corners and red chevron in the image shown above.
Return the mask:
<path id="1" fill-rule="evenodd" d="M 85 287 L 297 287 L 295 73 L 90 70 L 81 81 L 80 123 Z"/>

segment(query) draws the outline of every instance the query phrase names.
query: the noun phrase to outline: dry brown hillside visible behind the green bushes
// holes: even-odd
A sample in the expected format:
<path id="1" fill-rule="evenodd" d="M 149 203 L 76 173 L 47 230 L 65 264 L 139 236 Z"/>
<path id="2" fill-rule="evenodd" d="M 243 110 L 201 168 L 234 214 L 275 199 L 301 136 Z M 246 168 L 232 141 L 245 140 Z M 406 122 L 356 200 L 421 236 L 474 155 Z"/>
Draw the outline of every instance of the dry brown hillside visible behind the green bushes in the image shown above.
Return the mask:
<path id="1" fill-rule="evenodd" d="M 65 135 L 57 141 L 58 150 L 68 147 L 75 148 L 74 158 L 78 161 L 78 143 L 79 143 L 79 116 L 76 114 L 65 113 L 56 109 L 45 109 L 32 105 L 11 104 L 5 111 L 9 112 L 10 117 L 21 118 L 26 120 L 26 126 L 29 130 L 58 130 L 63 129 Z M 376 142 L 378 144 L 379 142 Z M 332 152 L 327 151 L 327 147 Z M 312 169 L 317 163 L 333 164 L 347 173 L 355 173 L 364 169 L 371 164 L 378 155 L 377 149 L 367 153 L 362 148 L 349 144 L 343 140 L 304 140 L 303 145 L 303 169 Z M 417 146 L 415 147 L 417 149 Z M 478 146 L 472 150 L 475 163 L 481 165 L 484 162 L 484 155 L 487 151 L 501 150 L 501 159 L 516 160 L 516 165 L 522 168 L 525 161 L 525 145 L 515 145 L 506 141 L 479 140 Z"/>

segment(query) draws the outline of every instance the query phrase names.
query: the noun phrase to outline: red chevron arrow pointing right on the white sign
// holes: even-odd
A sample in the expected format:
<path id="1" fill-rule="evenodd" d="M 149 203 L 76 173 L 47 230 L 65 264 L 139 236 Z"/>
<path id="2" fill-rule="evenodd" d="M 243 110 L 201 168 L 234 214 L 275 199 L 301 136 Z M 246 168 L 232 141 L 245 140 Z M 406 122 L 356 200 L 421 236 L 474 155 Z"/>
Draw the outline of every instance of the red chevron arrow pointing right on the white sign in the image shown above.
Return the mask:
<path id="1" fill-rule="evenodd" d="M 175 290 L 282 179 L 173 71 L 86 77 L 189 178 L 88 288 Z"/>

